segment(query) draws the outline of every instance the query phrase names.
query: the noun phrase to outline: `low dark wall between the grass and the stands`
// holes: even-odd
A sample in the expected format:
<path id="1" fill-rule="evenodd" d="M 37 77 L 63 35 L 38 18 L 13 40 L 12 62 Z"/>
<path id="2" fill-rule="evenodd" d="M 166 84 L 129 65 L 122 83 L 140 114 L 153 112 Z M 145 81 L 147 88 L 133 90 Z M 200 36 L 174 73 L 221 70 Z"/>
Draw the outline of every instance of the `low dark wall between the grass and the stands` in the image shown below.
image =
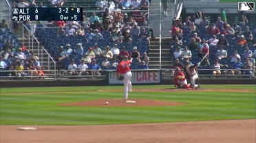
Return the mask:
<path id="1" fill-rule="evenodd" d="M 153 83 L 156 84 L 156 83 Z M 172 85 L 171 79 L 162 79 L 162 85 Z M 200 84 L 247 84 L 256 85 L 255 78 L 244 79 L 200 79 Z M 108 86 L 107 79 L 61 79 L 61 80 L 1 80 L 1 88 L 21 88 L 21 87 L 58 87 L 58 86 Z M 136 83 L 133 83 L 136 85 Z M 138 84 L 137 84 L 138 85 Z M 141 84 L 140 84 L 141 85 Z M 152 83 L 145 83 L 144 85 L 152 85 Z"/>

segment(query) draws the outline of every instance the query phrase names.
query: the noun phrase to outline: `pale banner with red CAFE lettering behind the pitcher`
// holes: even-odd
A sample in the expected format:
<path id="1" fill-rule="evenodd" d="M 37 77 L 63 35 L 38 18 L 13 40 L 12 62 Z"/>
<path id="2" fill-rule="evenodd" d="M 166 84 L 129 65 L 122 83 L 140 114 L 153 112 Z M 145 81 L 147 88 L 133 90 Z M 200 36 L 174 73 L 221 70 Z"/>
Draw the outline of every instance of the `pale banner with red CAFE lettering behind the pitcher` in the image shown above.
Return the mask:
<path id="1" fill-rule="evenodd" d="M 122 84 L 122 81 L 116 79 L 116 71 L 109 71 L 109 84 Z M 131 71 L 131 83 L 160 83 L 160 70 L 134 70 Z"/>

